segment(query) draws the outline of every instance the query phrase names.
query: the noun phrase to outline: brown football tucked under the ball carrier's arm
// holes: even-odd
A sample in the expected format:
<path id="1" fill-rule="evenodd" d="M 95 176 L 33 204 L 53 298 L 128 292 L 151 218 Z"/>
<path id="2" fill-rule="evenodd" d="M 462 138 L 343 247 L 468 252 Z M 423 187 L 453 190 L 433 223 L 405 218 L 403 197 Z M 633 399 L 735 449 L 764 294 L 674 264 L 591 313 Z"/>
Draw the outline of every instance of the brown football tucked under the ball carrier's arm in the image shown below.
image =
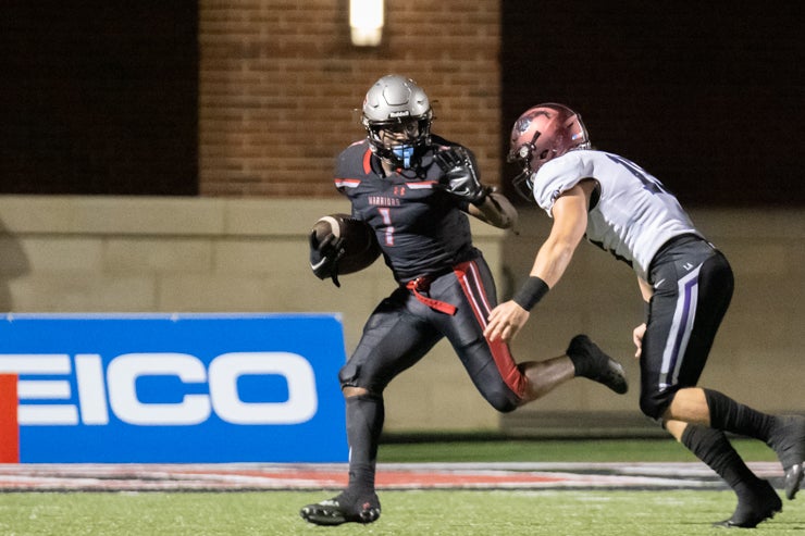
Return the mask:
<path id="1" fill-rule="evenodd" d="M 344 238 L 344 257 L 338 261 L 338 274 L 351 274 L 369 267 L 380 257 L 380 245 L 374 229 L 368 223 L 349 214 L 330 214 L 320 217 L 313 229 L 321 242 L 330 233 Z"/>

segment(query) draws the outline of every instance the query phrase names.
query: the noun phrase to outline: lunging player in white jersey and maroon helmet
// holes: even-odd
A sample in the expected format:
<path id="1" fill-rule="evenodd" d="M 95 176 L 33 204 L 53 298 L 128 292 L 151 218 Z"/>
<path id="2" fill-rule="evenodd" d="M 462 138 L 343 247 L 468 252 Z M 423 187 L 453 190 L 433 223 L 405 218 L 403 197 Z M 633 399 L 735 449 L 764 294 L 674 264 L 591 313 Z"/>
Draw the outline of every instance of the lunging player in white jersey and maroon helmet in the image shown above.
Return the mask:
<path id="1" fill-rule="evenodd" d="M 805 417 L 769 415 L 697 387 L 732 297 L 725 255 L 659 180 L 618 154 L 593 150 L 581 116 L 566 105 L 525 111 L 512 128 L 508 158 L 523 165 L 513 185 L 554 223 L 529 279 L 492 311 L 484 335 L 510 341 L 586 236 L 637 275 L 646 303 L 646 321 L 633 332 L 641 410 L 738 495 L 732 516 L 717 525 L 754 527 L 772 518 L 782 509 L 777 491 L 746 466 L 725 433 L 771 447 L 784 470 L 785 496 L 793 499 L 805 471 Z"/>

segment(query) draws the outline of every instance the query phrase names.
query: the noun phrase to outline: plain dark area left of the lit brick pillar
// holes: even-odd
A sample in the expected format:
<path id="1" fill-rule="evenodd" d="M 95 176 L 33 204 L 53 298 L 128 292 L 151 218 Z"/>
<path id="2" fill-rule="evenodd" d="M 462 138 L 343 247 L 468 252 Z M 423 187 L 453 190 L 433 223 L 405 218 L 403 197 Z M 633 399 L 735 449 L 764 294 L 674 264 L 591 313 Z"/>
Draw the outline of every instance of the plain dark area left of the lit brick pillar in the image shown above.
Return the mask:
<path id="1" fill-rule="evenodd" d="M 0 192 L 198 194 L 198 5 L 3 2 Z"/>

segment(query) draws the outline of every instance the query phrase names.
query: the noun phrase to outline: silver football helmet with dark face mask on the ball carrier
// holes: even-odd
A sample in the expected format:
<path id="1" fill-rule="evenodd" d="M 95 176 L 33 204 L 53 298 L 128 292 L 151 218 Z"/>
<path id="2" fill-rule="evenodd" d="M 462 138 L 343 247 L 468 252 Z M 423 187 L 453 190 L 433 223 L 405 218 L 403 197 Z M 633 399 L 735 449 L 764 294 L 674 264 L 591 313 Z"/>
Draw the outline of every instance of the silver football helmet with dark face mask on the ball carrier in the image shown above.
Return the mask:
<path id="1" fill-rule="evenodd" d="M 374 83 L 363 100 L 361 123 L 369 145 L 395 167 L 412 167 L 431 142 L 433 111 L 424 90 L 391 74 Z"/>

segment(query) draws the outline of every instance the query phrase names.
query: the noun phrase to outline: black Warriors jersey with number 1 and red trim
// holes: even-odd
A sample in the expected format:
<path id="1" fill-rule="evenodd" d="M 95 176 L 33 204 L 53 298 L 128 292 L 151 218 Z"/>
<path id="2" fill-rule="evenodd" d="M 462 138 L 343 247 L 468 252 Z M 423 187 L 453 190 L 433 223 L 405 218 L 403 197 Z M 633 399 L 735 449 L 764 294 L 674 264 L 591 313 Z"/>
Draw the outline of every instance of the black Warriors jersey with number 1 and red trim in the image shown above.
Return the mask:
<path id="1" fill-rule="evenodd" d="M 357 141 L 338 157 L 335 186 L 352 203 L 352 216 L 374 228 L 386 264 L 406 283 L 449 272 L 478 255 L 472 246 L 468 202 L 438 187 L 444 172 L 434 151 L 455 146 L 438 136 L 420 165 L 384 175 L 380 158 L 367 140 Z"/>

